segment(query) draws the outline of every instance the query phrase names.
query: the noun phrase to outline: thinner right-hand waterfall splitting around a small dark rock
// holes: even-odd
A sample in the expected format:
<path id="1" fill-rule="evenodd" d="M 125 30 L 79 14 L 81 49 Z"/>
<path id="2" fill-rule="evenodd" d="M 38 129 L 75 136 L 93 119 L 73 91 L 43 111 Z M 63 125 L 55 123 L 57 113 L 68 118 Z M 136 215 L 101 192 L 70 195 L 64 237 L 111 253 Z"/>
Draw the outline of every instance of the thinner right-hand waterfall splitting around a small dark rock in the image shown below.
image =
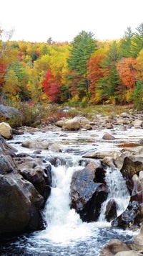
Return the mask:
<path id="1" fill-rule="evenodd" d="M 99 221 L 105 221 L 105 211 L 109 200 L 114 199 L 116 202 L 117 216 L 119 216 L 127 208 L 130 198 L 126 182 L 117 168 L 107 168 L 105 180 L 109 194 L 107 200 L 102 204 Z"/>

